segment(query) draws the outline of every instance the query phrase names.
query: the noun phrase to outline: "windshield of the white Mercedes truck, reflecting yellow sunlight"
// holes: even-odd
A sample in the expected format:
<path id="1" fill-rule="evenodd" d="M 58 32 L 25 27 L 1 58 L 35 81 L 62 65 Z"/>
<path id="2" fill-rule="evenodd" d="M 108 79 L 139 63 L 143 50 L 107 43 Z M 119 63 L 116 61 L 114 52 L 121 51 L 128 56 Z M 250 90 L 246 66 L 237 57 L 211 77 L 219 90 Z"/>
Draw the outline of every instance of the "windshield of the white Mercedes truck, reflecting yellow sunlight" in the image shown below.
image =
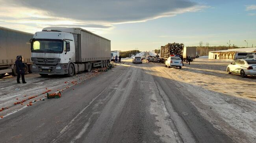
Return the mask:
<path id="1" fill-rule="evenodd" d="M 63 40 L 35 39 L 32 42 L 32 52 L 62 53 Z"/>

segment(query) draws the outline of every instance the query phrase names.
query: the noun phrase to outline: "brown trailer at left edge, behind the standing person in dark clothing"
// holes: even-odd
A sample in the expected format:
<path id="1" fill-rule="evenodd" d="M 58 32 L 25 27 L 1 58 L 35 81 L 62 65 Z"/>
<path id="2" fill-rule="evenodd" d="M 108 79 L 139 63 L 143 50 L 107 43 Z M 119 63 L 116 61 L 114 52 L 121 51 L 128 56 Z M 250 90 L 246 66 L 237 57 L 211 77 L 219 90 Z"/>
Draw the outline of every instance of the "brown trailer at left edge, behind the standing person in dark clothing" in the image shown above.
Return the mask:
<path id="1" fill-rule="evenodd" d="M 31 73 L 31 38 L 32 33 L 0 27 L 0 76 L 17 76 L 15 61 L 19 55 L 24 58 L 25 74 Z"/>

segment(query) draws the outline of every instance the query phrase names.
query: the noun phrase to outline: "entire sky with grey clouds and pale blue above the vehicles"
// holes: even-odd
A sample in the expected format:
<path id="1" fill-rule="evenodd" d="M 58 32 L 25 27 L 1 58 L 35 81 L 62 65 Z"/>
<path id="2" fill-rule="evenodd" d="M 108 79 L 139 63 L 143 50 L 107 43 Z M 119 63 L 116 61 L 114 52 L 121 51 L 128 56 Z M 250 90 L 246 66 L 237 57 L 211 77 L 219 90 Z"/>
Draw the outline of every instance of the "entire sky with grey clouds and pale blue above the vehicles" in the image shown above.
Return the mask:
<path id="1" fill-rule="evenodd" d="M 256 0 L 0 0 L 0 26 L 29 33 L 81 27 L 121 51 L 200 41 L 256 47 Z"/>

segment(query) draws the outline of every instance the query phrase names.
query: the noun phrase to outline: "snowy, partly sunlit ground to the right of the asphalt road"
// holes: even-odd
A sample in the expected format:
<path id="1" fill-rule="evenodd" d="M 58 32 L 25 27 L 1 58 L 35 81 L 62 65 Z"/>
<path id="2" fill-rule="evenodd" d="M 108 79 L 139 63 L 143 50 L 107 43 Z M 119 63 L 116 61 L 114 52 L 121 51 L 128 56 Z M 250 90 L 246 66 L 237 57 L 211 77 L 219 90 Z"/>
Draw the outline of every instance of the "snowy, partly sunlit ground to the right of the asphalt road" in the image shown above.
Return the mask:
<path id="1" fill-rule="evenodd" d="M 227 74 L 229 63 L 196 59 L 191 65 L 185 63 L 182 69 L 163 67 L 163 70 L 182 85 L 181 91 L 189 91 L 187 98 L 214 127 L 237 142 L 253 143 L 256 140 L 256 77 Z"/>

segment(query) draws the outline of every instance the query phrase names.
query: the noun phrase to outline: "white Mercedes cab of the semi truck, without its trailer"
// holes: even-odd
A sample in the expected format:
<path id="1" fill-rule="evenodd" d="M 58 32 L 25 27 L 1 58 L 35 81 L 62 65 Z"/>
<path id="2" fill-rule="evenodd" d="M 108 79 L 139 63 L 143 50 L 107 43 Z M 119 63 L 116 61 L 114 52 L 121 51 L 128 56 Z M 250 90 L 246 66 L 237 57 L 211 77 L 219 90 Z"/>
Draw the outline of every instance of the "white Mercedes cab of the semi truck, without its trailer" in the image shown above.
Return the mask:
<path id="1" fill-rule="evenodd" d="M 75 72 L 74 66 L 71 69 L 68 68 L 69 63 L 75 62 L 76 58 L 74 36 L 71 33 L 36 32 L 31 40 L 31 52 L 32 73 L 39 73 L 44 76 Z"/>

